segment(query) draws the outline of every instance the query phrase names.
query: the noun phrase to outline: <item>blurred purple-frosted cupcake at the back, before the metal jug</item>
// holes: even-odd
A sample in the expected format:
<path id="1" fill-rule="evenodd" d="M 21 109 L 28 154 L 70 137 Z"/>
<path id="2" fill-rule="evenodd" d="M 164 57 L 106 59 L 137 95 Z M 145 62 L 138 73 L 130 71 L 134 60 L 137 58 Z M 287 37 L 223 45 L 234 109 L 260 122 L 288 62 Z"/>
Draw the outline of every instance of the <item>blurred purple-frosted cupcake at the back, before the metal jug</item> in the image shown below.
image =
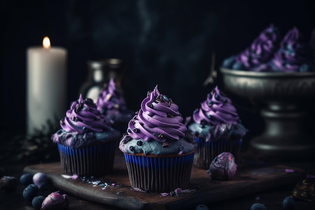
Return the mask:
<path id="1" fill-rule="evenodd" d="M 134 111 L 127 108 L 123 94 L 120 89 L 116 88 L 113 79 L 100 91 L 96 105 L 103 115 L 112 120 L 113 128 L 118 129 L 121 133 L 126 131 Z"/>

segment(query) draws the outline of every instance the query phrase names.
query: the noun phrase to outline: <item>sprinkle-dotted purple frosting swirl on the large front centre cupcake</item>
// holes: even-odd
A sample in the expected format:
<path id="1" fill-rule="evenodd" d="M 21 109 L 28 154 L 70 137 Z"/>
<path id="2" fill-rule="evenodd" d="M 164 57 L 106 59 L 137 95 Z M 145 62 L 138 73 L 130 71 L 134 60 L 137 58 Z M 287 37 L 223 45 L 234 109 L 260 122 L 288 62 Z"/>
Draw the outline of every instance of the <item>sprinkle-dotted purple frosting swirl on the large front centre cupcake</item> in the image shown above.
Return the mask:
<path id="1" fill-rule="evenodd" d="M 167 96 L 160 94 L 157 86 L 141 103 L 141 109 L 128 123 L 128 134 L 133 139 L 146 142 L 154 139 L 165 143 L 167 139 L 178 141 L 187 130 L 178 106 Z"/>

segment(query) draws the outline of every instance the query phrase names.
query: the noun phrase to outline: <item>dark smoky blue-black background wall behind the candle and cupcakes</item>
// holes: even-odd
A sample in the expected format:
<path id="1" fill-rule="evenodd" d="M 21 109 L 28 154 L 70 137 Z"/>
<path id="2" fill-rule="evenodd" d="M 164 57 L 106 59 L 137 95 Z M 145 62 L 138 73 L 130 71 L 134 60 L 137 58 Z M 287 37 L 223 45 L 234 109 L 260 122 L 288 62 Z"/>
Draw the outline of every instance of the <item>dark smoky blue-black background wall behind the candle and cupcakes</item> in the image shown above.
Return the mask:
<path id="1" fill-rule="evenodd" d="M 1 132 L 25 132 L 26 48 L 41 45 L 44 36 L 68 50 L 68 105 L 86 80 L 87 60 L 115 57 L 128 65 L 122 85 L 129 108 L 138 110 L 147 91 L 158 85 L 189 116 L 213 87 L 202 85 L 213 51 L 218 69 L 271 23 L 282 36 L 296 26 L 308 40 L 315 27 L 311 2 L 2 1 Z M 220 75 L 216 84 L 224 90 Z M 228 96 L 249 136 L 261 132 L 263 123 L 251 103 Z"/>

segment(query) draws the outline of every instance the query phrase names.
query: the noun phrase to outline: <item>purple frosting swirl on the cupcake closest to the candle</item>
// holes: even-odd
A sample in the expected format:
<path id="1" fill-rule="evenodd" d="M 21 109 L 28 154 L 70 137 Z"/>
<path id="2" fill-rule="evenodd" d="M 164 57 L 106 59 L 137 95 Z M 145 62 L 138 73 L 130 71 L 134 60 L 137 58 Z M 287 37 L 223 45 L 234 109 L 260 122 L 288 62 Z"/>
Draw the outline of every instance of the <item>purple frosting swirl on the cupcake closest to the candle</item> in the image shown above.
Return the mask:
<path id="1" fill-rule="evenodd" d="M 90 131 L 104 132 L 110 129 L 110 120 L 105 118 L 92 99 L 83 100 L 82 95 L 73 101 L 66 116 L 60 120 L 60 126 L 67 132 L 86 133 Z"/>

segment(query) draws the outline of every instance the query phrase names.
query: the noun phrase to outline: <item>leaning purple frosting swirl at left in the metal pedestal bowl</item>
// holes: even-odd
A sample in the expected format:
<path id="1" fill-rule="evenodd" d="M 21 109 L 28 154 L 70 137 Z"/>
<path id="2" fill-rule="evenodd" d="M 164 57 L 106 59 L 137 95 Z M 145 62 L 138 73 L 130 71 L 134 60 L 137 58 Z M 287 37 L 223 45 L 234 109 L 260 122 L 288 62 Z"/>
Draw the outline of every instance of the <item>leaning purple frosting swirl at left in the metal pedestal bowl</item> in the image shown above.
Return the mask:
<path id="1" fill-rule="evenodd" d="M 268 71 L 267 63 L 278 49 L 279 42 L 279 30 L 271 24 L 259 34 L 250 47 L 235 57 L 235 61 L 243 63 L 246 68 L 244 70 Z"/>

